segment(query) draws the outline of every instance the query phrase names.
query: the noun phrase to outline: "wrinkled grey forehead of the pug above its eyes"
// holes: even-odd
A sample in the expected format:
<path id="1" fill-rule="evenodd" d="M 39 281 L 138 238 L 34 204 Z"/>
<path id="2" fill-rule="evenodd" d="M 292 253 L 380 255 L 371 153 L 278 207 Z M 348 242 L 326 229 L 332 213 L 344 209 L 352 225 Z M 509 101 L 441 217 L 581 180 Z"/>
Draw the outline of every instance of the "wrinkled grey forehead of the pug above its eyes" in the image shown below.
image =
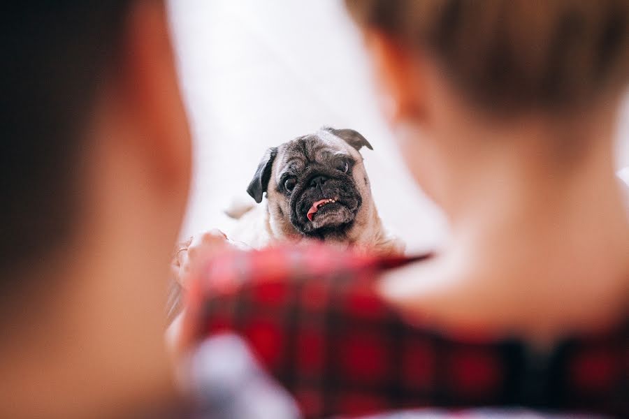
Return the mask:
<path id="1" fill-rule="evenodd" d="M 319 131 L 304 135 L 280 146 L 277 165 L 280 170 L 303 170 L 309 164 L 333 163 L 339 156 L 359 159 L 360 154 L 336 135 Z"/>

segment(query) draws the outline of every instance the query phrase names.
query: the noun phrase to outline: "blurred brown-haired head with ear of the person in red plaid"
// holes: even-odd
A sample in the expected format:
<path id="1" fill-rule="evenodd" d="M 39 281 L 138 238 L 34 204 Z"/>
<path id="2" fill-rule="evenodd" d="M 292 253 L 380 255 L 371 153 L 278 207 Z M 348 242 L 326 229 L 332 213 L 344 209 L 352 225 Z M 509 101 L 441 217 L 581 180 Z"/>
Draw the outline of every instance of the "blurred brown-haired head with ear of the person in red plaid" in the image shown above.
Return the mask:
<path id="1" fill-rule="evenodd" d="M 537 147 L 533 154 L 563 162 L 579 156 L 588 145 L 575 138 L 587 131 L 577 123 L 608 124 L 626 87 L 627 1 L 346 3 L 403 156 L 438 203 L 454 192 L 442 187 L 450 169 L 488 154 L 485 147 Z M 518 126 L 530 131 L 506 144 Z M 493 134 L 505 142 L 492 143 Z"/>

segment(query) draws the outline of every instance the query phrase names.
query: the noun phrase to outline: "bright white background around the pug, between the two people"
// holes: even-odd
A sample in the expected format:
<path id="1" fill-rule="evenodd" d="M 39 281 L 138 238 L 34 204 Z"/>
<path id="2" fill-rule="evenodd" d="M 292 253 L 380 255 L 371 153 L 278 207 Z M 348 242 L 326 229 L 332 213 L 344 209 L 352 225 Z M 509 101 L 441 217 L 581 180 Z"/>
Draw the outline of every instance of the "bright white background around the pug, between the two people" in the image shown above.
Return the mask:
<path id="1" fill-rule="evenodd" d="M 363 155 L 375 202 L 410 251 L 444 237 L 443 217 L 410 181 L 379 117 L 342 1 L 171 0 L 170 8 L 194 135 L 182 235 L 229 228 L 222 210 L 246 196 L 264 150 L 327 125 L 354 128 L 373 144 Z M 619 165 L 629 166 L 629 101 L 619 138 Z"/>

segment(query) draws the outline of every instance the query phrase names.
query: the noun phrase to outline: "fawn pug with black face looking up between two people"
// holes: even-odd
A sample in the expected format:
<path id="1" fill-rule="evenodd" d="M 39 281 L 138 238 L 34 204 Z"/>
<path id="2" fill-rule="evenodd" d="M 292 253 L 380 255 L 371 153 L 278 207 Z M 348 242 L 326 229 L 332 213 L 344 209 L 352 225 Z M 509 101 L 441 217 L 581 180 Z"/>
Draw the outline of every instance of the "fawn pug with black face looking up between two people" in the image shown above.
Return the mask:
<path id="1" fill-rule="evenodd" d="M 266 151 L 247 193 L 258 204 L 232 211 L 228 236 L 254 248 L 322 240 L 379 254 L 403 253 L 373 202 L 360 150 L 373 149 L 352 129 L 324 127 Z M 266 200 L 263 198 L 266 195 Z"/>

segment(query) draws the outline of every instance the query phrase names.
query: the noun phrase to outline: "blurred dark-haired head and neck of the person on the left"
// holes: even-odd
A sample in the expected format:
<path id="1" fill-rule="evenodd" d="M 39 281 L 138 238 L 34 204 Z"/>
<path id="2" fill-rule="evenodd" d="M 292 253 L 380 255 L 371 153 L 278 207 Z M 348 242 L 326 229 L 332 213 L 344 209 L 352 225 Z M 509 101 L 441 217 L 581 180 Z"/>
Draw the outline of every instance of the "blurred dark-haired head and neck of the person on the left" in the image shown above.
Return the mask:
<path id="1" fill-rule="evenodd" d="M 191 156 L 166 6 L 11 1 L 0 20 L 0 416 L 106 416 L 170 387 Z"/>

